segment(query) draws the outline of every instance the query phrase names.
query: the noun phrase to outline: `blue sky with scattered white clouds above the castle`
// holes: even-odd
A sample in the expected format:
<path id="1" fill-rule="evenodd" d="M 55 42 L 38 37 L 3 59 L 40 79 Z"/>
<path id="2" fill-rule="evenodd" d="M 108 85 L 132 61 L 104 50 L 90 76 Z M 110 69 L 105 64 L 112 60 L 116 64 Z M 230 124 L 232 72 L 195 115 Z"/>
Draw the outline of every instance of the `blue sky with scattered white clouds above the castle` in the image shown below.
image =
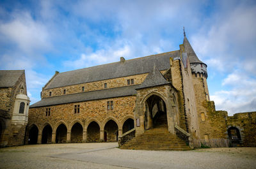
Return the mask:
<path id="1" fill-rule="evenodd" d="M 216 109 L 256 111 L 255 1 L 0 1 L 0 69 L 35 103 L 55 71 L 179 50 L 183 26 Z"/>

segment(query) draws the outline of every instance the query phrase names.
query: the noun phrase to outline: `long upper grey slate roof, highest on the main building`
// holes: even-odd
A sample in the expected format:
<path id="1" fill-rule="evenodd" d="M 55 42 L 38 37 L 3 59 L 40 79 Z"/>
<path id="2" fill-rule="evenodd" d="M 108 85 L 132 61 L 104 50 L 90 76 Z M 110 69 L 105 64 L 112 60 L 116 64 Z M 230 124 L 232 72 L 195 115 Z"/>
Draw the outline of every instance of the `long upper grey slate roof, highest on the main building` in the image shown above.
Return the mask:
<path id="1" fill-rule="evenodd" d="M 170 68 L 170 57 L 179 56 L 180 50 L 176 50 L 137 59 L 102 64 L 90 68 L 66 71 L 52 78 L 45 89 L 148 73 L 154 64 L 158 70 L 167 70 Z"/>

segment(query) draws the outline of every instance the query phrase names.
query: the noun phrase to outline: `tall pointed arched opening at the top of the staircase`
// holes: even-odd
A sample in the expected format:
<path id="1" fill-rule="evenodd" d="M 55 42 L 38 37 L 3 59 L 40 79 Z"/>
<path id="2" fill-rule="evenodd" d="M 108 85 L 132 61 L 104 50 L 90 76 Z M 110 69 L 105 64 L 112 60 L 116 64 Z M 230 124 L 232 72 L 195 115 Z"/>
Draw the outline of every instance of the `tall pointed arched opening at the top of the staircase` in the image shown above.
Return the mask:
<path id="1" fill-rule="evenodd" d="M 145 129 L 168 127 L 166 105 L 162 98 L 150 96 L 145 101 L 145 108 Z"/>

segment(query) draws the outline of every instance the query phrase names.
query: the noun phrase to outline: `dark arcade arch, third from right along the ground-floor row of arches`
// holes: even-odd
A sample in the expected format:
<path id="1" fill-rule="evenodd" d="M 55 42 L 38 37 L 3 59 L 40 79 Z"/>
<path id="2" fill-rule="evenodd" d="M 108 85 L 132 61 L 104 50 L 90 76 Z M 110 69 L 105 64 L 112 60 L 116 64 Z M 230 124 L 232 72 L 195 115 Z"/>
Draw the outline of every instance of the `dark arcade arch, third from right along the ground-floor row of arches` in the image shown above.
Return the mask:
<path id="1" fill-rule="evenodd" d="M 87 142 L 100 141 L 100 126 L 97 122 L 93 121 L 87 127 Z"/>

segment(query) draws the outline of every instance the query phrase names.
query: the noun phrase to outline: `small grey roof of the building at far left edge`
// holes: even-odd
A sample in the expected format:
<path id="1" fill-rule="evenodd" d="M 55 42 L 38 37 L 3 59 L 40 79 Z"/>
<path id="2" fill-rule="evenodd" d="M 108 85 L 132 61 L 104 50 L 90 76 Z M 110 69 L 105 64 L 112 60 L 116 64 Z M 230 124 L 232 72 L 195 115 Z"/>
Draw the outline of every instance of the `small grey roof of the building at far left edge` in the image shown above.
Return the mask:
<path id="1" fill-rule="evenodd" d="M 25 70 L 0 70 L 0 87 L 13 87 Z"/>

